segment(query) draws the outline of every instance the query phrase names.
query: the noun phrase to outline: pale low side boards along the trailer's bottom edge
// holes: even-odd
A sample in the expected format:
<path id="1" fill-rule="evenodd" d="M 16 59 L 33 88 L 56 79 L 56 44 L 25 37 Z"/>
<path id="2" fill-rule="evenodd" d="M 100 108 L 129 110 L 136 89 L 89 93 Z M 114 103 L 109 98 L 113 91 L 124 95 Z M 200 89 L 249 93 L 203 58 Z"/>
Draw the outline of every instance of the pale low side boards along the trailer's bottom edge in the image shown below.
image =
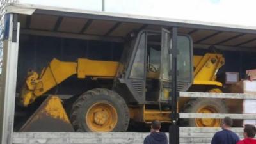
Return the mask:
<path id="1" fill-rule="evenodd" d="M 210 144 L 212 136 L 220 128 L 191 128 L 180 127 L 180 144 Z M 243 138 L 243 128 L 234 128 L 232 131 Z M 148 133 L 139 132 L 115 132 L 115 133 L 63 133 L 63 132 L 26 132 L 14 133 L 13 144 L 110 144 L 110 143 L 123 143 L 123 144 L 139 144 L 143 143 L 144 138 Z M 166 134 L 168 135 L 168 134 Z"/>

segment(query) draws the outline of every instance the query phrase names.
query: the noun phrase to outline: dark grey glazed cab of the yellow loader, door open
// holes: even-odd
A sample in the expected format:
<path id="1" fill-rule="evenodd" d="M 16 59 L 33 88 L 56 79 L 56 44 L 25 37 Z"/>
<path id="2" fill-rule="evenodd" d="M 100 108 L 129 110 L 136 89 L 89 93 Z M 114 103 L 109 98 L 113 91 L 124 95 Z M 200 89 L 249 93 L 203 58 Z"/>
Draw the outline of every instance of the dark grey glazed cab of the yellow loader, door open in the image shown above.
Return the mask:
<path id="1" fill-rule="evenodd" d="M 193 43 L 188 35 L 177 36 L 178 90 L 193 83 Z M 124 47 L 113 90 L 129 104 L 159 104 L 172 91 L 172 37 L 162 31 L 140 31 Z"/>

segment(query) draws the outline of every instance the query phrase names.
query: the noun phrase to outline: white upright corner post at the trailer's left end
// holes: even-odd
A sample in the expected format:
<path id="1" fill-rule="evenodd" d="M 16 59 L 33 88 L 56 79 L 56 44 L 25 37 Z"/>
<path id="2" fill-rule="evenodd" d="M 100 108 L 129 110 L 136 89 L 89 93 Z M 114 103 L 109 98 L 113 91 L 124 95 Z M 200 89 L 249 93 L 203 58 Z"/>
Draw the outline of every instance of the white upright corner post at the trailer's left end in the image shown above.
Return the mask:
<path id="1" fill-rule="evenodd" d="M 4 15 L 3 66 L 0 90 L 0 143 L 12 144 L 20 24 L 17 14 Z"/>

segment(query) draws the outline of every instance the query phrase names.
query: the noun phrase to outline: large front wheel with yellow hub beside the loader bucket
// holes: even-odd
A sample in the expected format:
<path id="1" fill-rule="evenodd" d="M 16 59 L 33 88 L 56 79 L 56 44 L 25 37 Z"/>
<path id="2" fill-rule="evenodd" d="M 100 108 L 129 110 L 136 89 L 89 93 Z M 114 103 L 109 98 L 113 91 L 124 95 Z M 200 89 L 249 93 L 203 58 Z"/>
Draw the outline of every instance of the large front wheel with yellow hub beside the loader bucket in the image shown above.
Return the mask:
<path id="1" fill-rule="evenodd" d="M 83 93 L 72 106 L 70 119 L 76 131 L 124 132 L 129 109 L 117 93 L 97 88 Z"/>

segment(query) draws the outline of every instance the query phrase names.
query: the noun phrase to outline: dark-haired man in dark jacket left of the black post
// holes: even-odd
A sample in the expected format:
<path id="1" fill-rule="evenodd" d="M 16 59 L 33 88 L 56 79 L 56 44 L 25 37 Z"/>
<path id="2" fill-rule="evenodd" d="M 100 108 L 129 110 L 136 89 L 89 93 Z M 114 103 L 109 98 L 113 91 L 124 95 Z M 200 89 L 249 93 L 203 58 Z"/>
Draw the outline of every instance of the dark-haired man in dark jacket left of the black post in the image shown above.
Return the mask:
<path id="1" fill-rule="evenodd" d="M 144 144 L 167 144 L 167 136 L 164 132 L 160 132 L 161 123 L 154 120 L 151 124 L 150 134 L 145 138 Z"/>

